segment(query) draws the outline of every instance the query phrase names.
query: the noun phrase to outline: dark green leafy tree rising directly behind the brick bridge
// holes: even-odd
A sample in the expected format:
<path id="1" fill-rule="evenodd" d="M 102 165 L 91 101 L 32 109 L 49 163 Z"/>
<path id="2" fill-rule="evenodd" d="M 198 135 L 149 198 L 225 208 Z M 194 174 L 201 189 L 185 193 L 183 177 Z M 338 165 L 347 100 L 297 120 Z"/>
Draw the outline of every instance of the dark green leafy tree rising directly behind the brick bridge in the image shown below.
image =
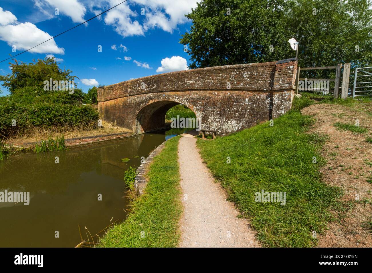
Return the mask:
<path id="1" fill-rule="evenodd" d="M 289 55 L 281 23 L 285 5 L 283 0 L 201 1 L 186 15 L 193 25 L 180 40 L 188 46 L 189 67 L 265 62 Z"/>

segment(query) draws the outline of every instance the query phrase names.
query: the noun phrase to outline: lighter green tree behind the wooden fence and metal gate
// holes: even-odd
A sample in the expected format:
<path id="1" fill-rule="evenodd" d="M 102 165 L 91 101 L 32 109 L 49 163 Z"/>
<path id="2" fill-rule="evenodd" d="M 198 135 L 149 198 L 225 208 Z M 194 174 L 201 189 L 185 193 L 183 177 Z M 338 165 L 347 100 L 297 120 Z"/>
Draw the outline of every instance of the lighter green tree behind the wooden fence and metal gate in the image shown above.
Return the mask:
<path id="1" fill-rule="evenodd" d="M 291 0 L 285 29 L 299 42 L 300 66 L 372 60 L 371 0 Z M 359 52 L 358 52 L 359 49 Z M 325 71 L 326 72 L 326 71 Z"/>

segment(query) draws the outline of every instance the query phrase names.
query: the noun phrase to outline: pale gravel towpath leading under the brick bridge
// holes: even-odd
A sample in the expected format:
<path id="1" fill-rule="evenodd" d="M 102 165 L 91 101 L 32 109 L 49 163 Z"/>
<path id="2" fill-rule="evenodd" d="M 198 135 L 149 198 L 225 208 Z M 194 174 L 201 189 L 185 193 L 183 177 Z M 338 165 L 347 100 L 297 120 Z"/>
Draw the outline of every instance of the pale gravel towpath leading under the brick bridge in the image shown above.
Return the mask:
<path id="1" fill-rule="evenodd" d="M 179 140 L 178 156 L 184 213 L 180 247 L 258 247 L 246 219 L 209 173 L 196 148 L 195 130 Z"/>

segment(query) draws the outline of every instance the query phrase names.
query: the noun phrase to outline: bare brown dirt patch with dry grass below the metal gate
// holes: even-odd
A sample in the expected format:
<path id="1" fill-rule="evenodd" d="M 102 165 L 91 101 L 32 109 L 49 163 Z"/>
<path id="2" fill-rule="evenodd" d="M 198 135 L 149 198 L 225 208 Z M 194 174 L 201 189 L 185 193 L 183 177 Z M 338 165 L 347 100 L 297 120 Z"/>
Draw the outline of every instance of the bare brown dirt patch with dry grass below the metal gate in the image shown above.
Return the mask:
<path id="1" fill-rule="evenodd" d="M 323 181 L 344 191 L 341 199 L 346 209 L 334 212 L 339 221 L 330 222 L 329 230 L 318 236 L 318 247 L 371 247 L 372 233 L 365 223 L 372 221 L 372 143 L 366 142 L 372 133 L 372 104 L 314 104 L 301 112 L 315 119 L 310 133 L 328 136 L 322 150 L 327 160 L 320 170 Z M 355 124 L 356 120 L 368 133 L 356 134 L 333 126 L 337 122 Z"/>

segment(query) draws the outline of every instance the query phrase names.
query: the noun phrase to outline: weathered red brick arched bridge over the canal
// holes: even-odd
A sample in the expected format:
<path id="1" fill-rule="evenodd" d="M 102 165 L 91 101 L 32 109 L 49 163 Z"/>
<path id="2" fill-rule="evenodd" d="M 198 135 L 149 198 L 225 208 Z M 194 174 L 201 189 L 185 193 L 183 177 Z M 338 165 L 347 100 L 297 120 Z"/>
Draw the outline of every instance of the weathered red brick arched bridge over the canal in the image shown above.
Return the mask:
<path id="1" fill-rule="evenodd" d="M 288 111 L 296 71 L 292 58 L 132 79 L 99 88 L 98 111 L 103 120 L 142 133 L 164 128 L 167 111 L 184 104 L 203 130 L 224 135 Z"/>

